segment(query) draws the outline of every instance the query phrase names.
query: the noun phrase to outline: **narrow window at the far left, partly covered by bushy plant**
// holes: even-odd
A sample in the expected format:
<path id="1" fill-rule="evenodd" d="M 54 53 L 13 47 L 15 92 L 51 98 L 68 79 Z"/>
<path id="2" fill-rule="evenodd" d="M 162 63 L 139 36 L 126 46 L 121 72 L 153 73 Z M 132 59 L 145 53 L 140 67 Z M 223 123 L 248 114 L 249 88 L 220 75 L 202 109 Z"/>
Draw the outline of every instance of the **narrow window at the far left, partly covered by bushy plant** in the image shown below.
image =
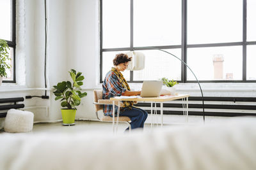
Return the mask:
<path id="1" fill-rule="evenodd" d="M 3 79 L 3 83 L 15 82 L 15 0 L 0 1 L 0 39 L 7 41 L 10 47 L 10 57 L 12 68 L 7 72 L 7 78 Z"/>

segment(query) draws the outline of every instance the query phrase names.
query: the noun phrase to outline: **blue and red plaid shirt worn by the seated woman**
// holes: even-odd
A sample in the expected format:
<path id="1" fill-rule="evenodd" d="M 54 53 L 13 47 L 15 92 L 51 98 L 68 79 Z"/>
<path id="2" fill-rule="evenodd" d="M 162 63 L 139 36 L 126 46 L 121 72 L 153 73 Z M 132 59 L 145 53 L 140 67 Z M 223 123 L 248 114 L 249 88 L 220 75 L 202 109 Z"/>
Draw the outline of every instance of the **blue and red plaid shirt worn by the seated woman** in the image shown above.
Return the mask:
<path id="1" fill-rule="evenodd" d="M 102 83 L 102 99 L 109 99 L 110 97 L 122 96 L 126 91 L 125 88 L 122 87 L 122 83 L 118 79 L 118 76 L 113 71 L 109 71 L 106 74 L 105 80 Z M 103 105 L 103 113 L 105 116 L 112 116 L 113 111 L 112 104 L 104 104 Z M 120 113 L 122 108 L 120 108 Z M 117 113 L 117 106 L 115 106 L 115 113 Z"/>

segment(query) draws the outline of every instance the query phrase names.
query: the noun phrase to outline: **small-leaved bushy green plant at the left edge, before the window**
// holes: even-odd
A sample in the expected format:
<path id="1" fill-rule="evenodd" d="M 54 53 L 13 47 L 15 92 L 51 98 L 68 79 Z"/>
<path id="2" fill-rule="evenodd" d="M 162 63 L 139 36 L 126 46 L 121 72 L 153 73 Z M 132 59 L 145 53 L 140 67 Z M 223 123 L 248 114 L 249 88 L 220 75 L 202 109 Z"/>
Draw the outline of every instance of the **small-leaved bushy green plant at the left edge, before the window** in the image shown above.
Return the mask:
<path id="1" fill-rule="evenodd" d="M 9 46 L 7 42 L 0 39 L 0 85 L 2 84 L 3 78 L 7 77 L 6 69 L 10 69 L 10 56 L 9 56 Z"/>

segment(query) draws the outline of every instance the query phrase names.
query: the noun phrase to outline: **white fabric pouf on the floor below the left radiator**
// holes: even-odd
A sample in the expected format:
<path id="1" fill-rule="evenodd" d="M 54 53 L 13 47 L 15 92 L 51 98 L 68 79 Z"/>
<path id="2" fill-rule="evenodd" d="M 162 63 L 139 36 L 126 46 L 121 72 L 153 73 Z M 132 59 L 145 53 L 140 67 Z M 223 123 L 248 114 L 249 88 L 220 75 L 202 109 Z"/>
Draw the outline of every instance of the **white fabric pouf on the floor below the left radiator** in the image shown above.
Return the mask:
<path id="1" fill-rule="evenodd" d="M 32 112 L 11 109 L 8 110 L 5 118 L 4 131 L 11 133 L 29 132 L 32 131 L 33 124 L 34 114 Z"/>

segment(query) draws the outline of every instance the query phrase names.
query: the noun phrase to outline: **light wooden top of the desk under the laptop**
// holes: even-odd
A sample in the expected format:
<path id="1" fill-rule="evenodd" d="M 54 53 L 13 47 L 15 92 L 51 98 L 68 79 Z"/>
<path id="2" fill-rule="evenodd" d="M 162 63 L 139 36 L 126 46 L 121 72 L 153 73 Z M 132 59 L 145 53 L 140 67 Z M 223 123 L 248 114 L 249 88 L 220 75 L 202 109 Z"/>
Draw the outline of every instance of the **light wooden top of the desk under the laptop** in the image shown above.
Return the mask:
<path id="1" fill-rule="evenodd" d="M 127 98 L 126 98 L 127 97 Z M 185 97 L 189 97 L 189 94 L 179 94 L 177 96 L 159 96 L 159 97 L 129 97 L 129 96 L 121 96 L 121 97 L 111 97 L 111 101 L 154 101 L 154 102 L 164 102 L 164 101 L 174 101 L 177 99 L 182 99 Z"/>

